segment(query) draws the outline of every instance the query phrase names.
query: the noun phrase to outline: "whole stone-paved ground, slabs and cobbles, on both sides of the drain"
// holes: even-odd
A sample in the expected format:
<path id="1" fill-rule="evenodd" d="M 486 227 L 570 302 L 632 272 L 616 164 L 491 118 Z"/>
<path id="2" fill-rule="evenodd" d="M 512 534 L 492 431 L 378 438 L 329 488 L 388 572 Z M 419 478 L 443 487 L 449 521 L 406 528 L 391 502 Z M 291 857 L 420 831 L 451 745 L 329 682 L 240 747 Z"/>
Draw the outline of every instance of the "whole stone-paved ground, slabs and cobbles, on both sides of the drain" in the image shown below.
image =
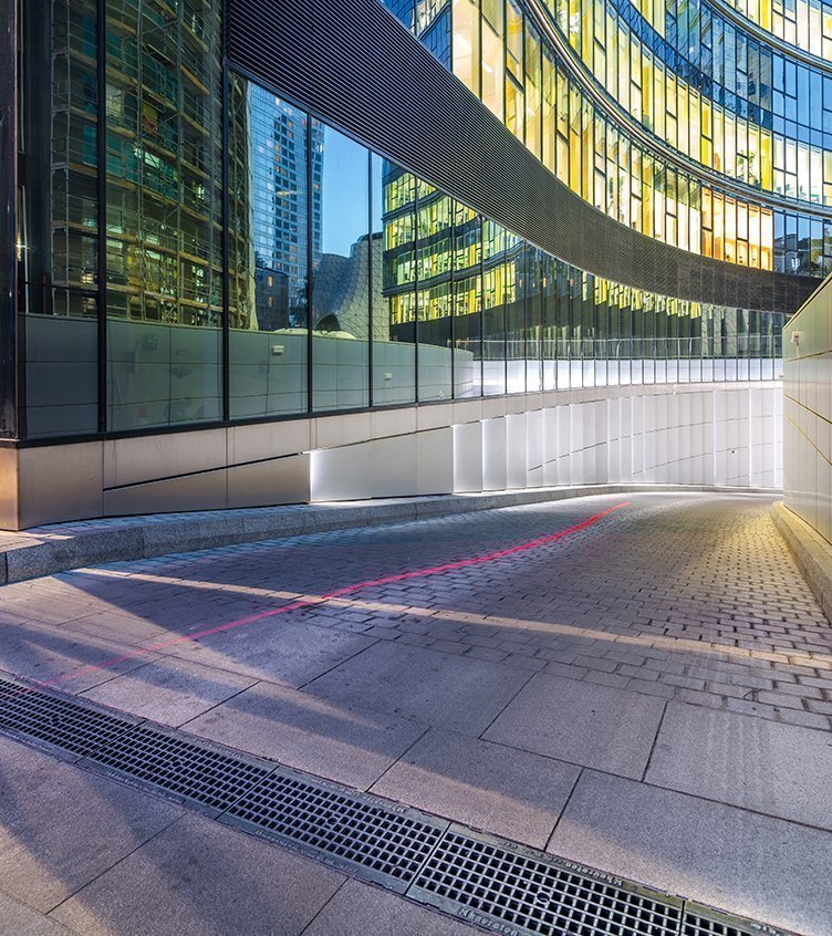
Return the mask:
<path id="1" fill-rule="evenodd" d="M 832 630 L 770 503 L 641 492 L 387 516 L 67 571 L 0 590 L 0 670 L 125 730 L 152 719 L 519 855 L 829 936 Z M 2 932 L 461 934 L 478 918 L 94 758 L 0 750 Z"/>

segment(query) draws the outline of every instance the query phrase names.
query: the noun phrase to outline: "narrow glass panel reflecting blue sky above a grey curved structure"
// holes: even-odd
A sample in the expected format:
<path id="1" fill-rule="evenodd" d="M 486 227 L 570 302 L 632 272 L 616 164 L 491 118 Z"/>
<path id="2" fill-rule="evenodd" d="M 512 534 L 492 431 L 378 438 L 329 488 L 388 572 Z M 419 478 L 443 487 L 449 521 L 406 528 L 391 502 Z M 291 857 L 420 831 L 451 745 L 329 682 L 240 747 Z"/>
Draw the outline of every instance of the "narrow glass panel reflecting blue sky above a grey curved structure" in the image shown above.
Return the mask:
<path id="1" fill-rule="evenodd" d="M 370 152 L 318 121 L 313 215 L 321 248 L 312 258 L 312 408 L 370 404 Z M 320 193 L 315 194 L 315 186 Z M 314 218 L 313 218 L 314 221 Z M 381 259 L 381 258 L 378 258 Z"/>

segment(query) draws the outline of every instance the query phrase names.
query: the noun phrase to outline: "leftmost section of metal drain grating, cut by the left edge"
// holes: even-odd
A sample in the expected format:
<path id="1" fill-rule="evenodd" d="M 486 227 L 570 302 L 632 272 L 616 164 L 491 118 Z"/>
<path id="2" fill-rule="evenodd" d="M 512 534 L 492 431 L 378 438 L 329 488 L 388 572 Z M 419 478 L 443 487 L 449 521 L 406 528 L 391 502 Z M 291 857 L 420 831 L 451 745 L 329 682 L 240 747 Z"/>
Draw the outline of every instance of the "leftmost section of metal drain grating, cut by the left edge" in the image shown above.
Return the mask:
<path id="1" fill-rule="evenodd" d="M 79 757 L 115 743 L 133 722 L 74 699 L 0 679 L 0 728 L 45 741 Z"/>

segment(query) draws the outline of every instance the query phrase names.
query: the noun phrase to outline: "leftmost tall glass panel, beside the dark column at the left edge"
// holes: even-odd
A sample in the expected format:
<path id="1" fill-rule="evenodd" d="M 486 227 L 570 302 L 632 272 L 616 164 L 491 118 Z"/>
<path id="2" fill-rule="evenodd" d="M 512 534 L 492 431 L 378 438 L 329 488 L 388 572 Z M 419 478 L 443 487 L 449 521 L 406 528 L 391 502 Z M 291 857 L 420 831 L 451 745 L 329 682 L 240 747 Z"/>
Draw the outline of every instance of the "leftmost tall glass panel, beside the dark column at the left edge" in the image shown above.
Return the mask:
<path id="1" fill-rule="evenodd" d="M 20 7 L 21 422 L 34 437 L 98 428 L 97 27 L 93 0 Z"/>

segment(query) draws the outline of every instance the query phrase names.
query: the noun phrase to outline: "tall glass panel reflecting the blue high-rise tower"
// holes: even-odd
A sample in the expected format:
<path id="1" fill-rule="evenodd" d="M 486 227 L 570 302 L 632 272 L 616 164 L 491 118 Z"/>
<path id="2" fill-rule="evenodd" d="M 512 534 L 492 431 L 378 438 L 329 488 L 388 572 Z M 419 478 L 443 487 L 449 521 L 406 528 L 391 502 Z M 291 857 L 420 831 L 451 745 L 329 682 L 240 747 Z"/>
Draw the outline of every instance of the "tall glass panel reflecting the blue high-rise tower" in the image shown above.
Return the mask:
<path id="1" fill-rule="evenodd" d="M 303 413 L 310 253 L 321 258 L 322 128 L 243 79 L 230 85 L 230 415 Z"/>

